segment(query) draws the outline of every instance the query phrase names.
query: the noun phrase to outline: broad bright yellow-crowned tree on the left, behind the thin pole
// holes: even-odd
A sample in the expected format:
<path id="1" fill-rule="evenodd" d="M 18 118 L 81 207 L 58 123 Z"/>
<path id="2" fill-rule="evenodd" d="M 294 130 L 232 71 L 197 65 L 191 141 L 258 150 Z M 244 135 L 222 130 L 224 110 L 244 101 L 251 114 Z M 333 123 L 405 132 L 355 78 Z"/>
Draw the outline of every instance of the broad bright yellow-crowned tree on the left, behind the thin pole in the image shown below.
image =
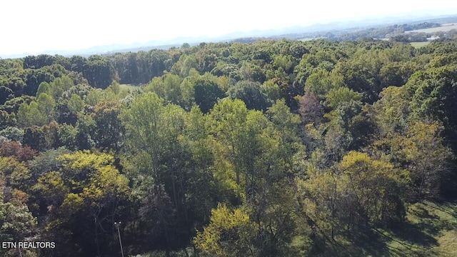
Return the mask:
<path id="1" fill-rule="evenodd" d="M 57 255 L 81 250 L 101 255 L 111 241 L 114 221 L 129 203 L 129 180 L 107 153 L 76 151 L 57 159 L 59 171 L 44 173 L 33 187 L 46 204 L 41 206 L 47 210 L 46 237 L 56 244 L 76 243 L 76 248 L 56 248 Z"/>

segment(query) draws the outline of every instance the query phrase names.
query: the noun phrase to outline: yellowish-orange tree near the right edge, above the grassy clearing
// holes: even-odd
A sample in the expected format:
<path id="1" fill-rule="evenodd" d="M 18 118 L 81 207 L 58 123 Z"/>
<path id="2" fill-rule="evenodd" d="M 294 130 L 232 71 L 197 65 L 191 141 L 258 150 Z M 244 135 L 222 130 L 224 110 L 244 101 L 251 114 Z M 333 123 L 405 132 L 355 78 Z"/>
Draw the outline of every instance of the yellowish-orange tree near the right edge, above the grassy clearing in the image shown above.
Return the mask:
<path id="1" fill-rule="evenodd" d="M 394 165 L 411 172 L 408 184 L 408 201 L 436 198 L 441 191 L 444 177 L 451 167 L 451 149 L 444 145 L 438 122 L 414 121 L 403 133 L 376 141 L 373 146 Z"/>

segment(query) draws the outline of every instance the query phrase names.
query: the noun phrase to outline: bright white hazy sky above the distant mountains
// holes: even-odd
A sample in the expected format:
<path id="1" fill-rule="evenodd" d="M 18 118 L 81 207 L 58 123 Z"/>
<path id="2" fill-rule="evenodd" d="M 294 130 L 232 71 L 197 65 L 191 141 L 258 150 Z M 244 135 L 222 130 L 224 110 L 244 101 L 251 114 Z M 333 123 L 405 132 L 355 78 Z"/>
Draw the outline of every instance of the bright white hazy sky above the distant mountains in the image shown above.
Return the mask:
<path id="1" fill-rule="evenodd" d="M 457 1 L 7 0 L 0 3 L 0 55 L 221 36 L 438 9 L 457 14 Z"/>

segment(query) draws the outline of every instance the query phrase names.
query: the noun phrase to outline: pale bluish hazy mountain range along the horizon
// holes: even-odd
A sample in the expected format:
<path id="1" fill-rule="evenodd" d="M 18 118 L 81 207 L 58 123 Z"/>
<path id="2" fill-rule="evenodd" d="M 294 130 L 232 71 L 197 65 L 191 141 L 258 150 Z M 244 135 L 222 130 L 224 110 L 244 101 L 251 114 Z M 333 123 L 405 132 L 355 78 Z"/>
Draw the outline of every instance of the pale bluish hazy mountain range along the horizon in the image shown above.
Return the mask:
<path id="1" fill-rule="evenodd" d="M 457 22 L 457 11 L 454 14 L 443 14 L 443 11 L 415 11 L 406 14 L 391 14 L 388 16 L 373 16 L 370 18 L 358 18 L 347 21 L 331 21 L 328 23 L 313 24 L 311 26 L 291 26 L 285 29 L 254 30 L 248 32 L 235 31 L 224 36 L 196 36 L 196 37 L 177 37 L 164 41 L 148 41 L 146 43 L 134 44 L 111 44 L 105 46 L 93 46 L 89 49 L 78 49 L 70 51 L 51 50 L 39 54 L 59 54 L 62 56 L 91 56 L 93 54 L 114 54 L 116 52 L 136 52 L 149 51 L 151 49 L 170 49 L 179 47 L 187 43 L 192 45 L 201 42 L 221 42 L 221 41 L 242 41 L 245 38 L 264 38 L 264 39 L 298 39 L 300 37 L 318 37 L 331 31 L 341 31 L 346 29 L 366 29 L 369 27 L 389 26 L 393 24 L 413 24 L 420 22 Z M 14 54 L 0 56 L 3 59 L 21 58 L 31 54 Z"/>

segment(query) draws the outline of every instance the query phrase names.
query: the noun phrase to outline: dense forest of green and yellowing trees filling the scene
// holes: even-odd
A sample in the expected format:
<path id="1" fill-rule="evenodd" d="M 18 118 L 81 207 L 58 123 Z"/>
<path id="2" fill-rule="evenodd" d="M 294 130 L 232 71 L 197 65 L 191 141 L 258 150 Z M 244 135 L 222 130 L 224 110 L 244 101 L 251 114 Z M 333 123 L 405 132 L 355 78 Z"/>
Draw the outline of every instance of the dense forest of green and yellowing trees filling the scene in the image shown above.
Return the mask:
<path id="1" fill-rule="evenodd" d="M 0 59 L 0 241 L 121 256 L 121 222 L 126 256 L 453 256 L 456 103 L 456 41 Z"/>

